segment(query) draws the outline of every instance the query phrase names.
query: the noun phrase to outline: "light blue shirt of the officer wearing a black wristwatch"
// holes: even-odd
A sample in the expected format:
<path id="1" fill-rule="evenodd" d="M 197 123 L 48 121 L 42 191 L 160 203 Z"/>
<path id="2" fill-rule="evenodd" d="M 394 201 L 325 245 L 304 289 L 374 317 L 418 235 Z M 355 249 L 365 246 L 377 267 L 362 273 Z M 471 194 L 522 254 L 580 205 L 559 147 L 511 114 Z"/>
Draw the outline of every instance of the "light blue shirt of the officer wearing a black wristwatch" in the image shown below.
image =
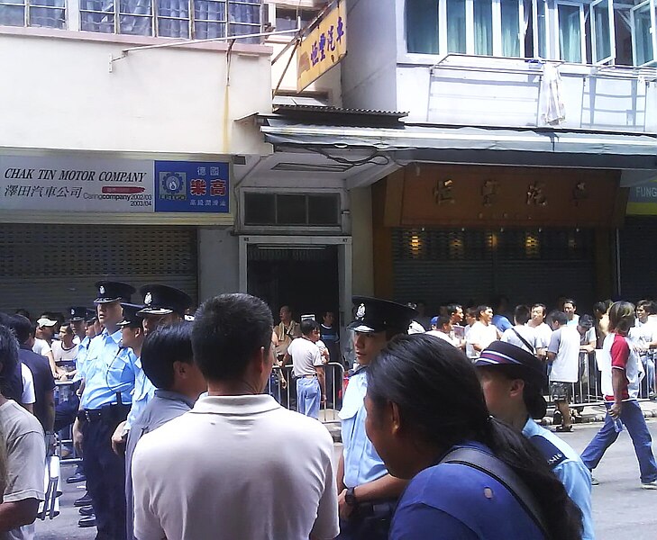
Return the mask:
<path id="1" fill-rule="evenodd" d="M 368 390 L 367 370 L 351 375 L 344 392 L 340 419 L 344 445 L 344 485 L 355 488 L 388 474 L 386 465 L 365 433 L 367 411 L 363 399 Z"/>

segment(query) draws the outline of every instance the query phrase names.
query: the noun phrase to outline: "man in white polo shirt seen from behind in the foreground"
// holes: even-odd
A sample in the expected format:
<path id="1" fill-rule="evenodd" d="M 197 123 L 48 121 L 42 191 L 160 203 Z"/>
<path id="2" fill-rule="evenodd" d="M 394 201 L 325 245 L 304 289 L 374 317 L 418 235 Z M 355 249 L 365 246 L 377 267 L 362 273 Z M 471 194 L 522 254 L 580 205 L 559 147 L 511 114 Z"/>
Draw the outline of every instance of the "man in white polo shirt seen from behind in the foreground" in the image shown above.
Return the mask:
<path id="1" fill-rule="evenodd" d="M 338 535 L 332 437 L 262 393 L 272 330 L 269 307 L 248 294 L 217 296 L 196 312 L 192 347 L 208 395 L 136 446 L 139 540 Z"/>

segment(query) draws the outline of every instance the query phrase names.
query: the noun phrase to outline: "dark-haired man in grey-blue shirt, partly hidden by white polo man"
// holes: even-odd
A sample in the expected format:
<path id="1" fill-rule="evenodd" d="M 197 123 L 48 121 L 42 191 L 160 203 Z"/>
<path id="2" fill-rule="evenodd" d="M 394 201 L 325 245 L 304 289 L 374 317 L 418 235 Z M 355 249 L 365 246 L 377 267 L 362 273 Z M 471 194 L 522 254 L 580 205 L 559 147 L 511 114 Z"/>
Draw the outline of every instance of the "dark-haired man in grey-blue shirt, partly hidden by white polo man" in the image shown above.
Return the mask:
<path id="1" fill-rule="evenodd" d="M 190 323 L 155 329 L 140 348 L 141 367 L 156 390 L 132 422 L 125 447 L 125 525 L 129 540 L 133 538 L 134 521 L 131 466 L 137 443 L 145 434 L 191 410 L 198 396 L 207 390 L 205 378 L 194 362 Z"/>

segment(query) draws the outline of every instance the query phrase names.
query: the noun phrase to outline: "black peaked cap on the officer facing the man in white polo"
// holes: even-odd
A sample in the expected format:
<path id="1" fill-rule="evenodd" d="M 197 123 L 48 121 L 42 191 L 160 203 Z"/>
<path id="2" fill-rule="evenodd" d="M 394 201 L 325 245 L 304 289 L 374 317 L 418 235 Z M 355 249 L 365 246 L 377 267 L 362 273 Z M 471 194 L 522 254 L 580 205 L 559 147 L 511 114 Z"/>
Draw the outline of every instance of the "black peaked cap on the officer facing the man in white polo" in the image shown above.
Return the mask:
<path id="1" fill-rule="evenodd" d="M 404 304 L 369 296 L 354 296 L 351 302 L 356 307 L 356 318 L 348 328 L 360 333 L 406 331 L 417 315 L 417 311 Z"/>

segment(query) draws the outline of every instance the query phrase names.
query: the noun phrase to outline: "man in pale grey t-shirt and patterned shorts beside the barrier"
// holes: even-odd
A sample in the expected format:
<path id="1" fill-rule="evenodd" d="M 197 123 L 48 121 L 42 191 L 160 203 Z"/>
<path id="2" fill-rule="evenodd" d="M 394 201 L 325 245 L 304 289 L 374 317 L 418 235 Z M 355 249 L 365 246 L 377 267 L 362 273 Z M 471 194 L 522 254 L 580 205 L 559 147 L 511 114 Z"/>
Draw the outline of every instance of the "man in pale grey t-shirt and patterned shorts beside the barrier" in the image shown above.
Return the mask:
<path id="1" fill-rule="evenodd" d="M 569 326 L 563 311 L 552 311 L 550 318 L 554 330 L 547 353 L 552 362 L 550 393 L 561 414 L 561 426 L 556 430 L 572 431 L 569 403 L 572 383 L 577 383 L 579 376 L 579 332 L 576 326 Z"/>

